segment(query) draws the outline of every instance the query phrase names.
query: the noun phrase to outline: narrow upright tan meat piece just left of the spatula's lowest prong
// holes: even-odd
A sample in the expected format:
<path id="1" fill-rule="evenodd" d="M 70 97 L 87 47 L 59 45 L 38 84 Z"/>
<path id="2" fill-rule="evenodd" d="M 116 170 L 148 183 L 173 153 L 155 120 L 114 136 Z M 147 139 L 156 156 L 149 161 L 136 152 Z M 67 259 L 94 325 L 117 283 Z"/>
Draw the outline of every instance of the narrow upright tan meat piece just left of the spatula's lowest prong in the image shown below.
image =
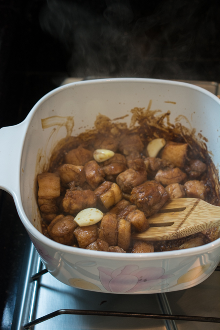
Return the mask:
<path id="1" fill-rule="evenodd" d="M 118 220 L 118 246 L 128 251 L 131 242 L 131 223 L 125 219 Z"/>

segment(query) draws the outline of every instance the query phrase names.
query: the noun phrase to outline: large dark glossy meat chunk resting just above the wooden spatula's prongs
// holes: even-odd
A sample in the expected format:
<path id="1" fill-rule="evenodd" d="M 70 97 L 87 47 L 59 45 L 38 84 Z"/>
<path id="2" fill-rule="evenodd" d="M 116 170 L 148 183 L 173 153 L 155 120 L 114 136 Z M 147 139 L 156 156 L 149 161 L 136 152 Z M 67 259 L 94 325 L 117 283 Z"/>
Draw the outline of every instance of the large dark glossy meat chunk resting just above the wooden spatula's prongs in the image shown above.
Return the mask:
<path id="1" fill-rule="evenodd" d="M 169 199 L 165 188 L 156 181 L 146 181 L 132 189 L 130 201 L 150 217 L 157 212 Z"/>

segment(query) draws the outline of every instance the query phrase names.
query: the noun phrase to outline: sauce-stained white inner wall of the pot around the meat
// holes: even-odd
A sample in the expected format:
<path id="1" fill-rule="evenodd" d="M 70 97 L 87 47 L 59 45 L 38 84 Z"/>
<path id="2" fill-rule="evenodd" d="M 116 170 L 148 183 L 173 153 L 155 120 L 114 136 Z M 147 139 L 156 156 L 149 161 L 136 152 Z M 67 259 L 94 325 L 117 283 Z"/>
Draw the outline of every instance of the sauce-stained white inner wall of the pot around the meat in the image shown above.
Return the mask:
<path id="1" fill-rule="evenodd" d="M 85 81 L 57 88 L 32 110 L 22 150 L 22 206 L 36 229 L 41 231 L 36 178 L 46 169 L 57 142 L 67 133 L 78 135 L 91 129 L 99 113 L 111 120 L 122 117 L 116 122 L 129 125 L 131 110 L 135 107 L 147 109 L 149 103 L 150 110 L 170 111 L 171 123 L 179 121 L 189 130 L 195 129 L 200 140 L 204 136 L 211 158 L 219 167 L 220 102 L 201 88 L 147 79 Z"/>

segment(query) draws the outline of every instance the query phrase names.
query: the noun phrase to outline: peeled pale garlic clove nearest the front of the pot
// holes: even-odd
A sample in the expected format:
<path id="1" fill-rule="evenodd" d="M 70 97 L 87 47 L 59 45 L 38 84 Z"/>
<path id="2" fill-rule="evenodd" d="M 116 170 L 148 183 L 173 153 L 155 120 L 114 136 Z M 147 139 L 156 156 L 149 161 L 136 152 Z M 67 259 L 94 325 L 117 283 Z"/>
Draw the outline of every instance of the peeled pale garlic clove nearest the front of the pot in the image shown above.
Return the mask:
<path id="1" fill-rule="evenodd" d="M 74 221 L 80 227 L 90 226 L 102 220 L 103 216 L 104 214 L 100 210 L 94 207 L 89 207 L 88 209 L 80 211 Z"/>

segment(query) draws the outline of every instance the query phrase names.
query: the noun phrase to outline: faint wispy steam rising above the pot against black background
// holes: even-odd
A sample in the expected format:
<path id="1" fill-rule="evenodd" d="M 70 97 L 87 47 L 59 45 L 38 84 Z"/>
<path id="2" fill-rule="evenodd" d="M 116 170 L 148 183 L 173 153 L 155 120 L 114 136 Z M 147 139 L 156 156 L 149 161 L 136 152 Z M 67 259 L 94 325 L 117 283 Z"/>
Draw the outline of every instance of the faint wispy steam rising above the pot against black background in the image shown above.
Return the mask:
<path id="1" fill-rule="evenodd" d="M 67 0 L 42 9 L 41 27 L 66 47 L 70 75 L 199 79 L 199 54 L 217 38 L 207 1 L 165 0 L 142 17 L 129 0 L 98 9 Z"/>

